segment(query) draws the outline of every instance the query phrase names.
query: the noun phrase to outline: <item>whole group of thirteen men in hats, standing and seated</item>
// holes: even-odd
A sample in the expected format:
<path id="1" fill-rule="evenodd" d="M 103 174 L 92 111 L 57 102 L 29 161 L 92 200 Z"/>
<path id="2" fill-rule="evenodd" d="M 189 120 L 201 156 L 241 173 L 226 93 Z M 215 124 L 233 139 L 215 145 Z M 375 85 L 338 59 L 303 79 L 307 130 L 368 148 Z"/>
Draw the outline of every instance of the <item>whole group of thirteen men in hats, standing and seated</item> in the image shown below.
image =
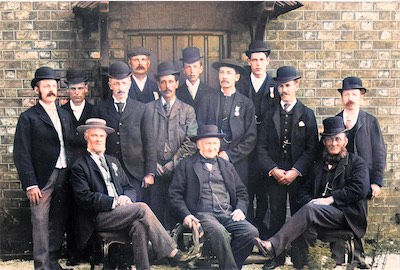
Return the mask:
<path id="1" fill-rule="evenodd" d="M 202 226 L 221 269 L 240 269 L 254 244 L 266 269 L 284 264 L 291 244 L 300 269 L 317 229 L 342 227 L 356 234 L 362 264 L 365 199 L 369 190 L 379 196 L 386 160 L 376 118 L 360 109 L 366 89 L 357 77 L 343 80 L 344 110 L 323 121 L 320 143 L 313 110 L 296 98 L 301 76 L 284 66 L 272 78 L 270 53 L 255 40 L 246 51 L 250 72 L 233 59 L 213 63 L 213 90 L 200 80 L 199 48 L 182 51 L 179 85 L 173 62 L 160 63 L 152 81 L 151 51 L 136 47 L 128 64 L 110 65 L 111 94 L 96 106 L 85 100 L 84 73 L 69 69 L 64 109 L 56 106 L 56 72 L 37 69 L 39 102 L 21 114 L 14 141 L 35 269 L 62 269 L 67 225 L 76 249 L 95 232 L 128 235 L 137 269 L 150 268 L 149 241 L 155 259 L 195 259 L 169 237 L 176 222 Z M 343 245 L 332 245 L 338 264 Z"/>

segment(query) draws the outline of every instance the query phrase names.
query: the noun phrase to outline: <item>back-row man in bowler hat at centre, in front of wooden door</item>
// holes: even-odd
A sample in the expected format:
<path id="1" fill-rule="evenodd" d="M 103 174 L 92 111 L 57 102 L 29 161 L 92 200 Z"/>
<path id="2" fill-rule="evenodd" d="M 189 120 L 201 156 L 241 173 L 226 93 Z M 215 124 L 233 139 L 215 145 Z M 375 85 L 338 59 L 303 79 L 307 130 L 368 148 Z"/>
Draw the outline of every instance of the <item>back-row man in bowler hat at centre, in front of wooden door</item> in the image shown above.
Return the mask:
<path id="1" fill-rule="evenodd" d="M 196 112 L 202 97 L 213 91 L 213 89 L 200 81 L 200 75 L 203 73 L 202 58 L 197 47 L 183 49 L 180 60 L 183 62 L 183 74 L 186 80 L 176 90 L 176 96 L 181 101 L 192 106 Z"/>

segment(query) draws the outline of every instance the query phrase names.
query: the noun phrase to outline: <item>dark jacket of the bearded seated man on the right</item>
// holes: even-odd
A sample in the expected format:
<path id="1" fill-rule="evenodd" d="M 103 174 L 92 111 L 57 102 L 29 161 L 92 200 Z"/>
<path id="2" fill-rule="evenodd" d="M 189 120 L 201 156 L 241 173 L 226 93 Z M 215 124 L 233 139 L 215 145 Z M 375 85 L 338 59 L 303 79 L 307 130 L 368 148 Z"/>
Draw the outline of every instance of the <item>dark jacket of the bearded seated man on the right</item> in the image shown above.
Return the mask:
<path id="1" fill-rule="evenodd" d="M 322 173 L 325 162 L 319 160 L 312 168 L 306 183 L 299 191 L 300 204 L 304 205 L 317 198 L 322 185 Z M 339 161 L 332 182 L 334 205 L 343 211 L 347 223 L 361 239 L 367 228 L 365 200 L 368 190 L 368 168 L 365 161 L 349 153 Z"/>

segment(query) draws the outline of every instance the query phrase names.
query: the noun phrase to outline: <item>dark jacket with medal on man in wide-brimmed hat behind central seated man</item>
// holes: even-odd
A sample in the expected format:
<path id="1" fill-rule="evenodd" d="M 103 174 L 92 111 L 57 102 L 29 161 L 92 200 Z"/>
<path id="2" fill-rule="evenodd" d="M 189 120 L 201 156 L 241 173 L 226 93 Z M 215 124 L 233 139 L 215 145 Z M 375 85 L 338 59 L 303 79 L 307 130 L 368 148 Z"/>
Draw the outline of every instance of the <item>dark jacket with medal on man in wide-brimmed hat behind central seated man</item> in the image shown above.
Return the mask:
<path id="1" fill-rule="evenodd" d="M 218 125 L 221 95 L 221 91 L 216 91 L 203 97 L 197 111 L 199 126 Z M 239 108 L 239 115 L 235 115 L 235 108 Z M 257 141 L 254 105 L 238 91 L 235 93 L 229 121 L 232 131 L 232 142 L 227 151 L 229 159 L 233 164 L 242 160 L 247 162 L 247 157 Z"/>

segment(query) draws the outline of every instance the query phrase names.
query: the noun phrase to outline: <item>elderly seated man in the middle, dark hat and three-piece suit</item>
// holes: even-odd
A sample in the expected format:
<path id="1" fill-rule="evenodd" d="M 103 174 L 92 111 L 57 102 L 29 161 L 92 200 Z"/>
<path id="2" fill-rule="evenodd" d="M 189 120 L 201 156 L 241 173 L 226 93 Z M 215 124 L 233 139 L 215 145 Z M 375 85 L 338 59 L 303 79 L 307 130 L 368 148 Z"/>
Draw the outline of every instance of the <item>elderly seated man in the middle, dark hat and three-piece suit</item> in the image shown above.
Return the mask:
<path id="1" fill-rule="evenodd" d="M 240 269 L 258 231 L 245 220 L 248 197 L 243 182 L 232 163 L 218 157 L 222 137 L 215 125 L 198 128 L 192 140 L 199 152 L 178 164 L 169 200 L 184 226 L 202 225 L 221 269 Z"/>

